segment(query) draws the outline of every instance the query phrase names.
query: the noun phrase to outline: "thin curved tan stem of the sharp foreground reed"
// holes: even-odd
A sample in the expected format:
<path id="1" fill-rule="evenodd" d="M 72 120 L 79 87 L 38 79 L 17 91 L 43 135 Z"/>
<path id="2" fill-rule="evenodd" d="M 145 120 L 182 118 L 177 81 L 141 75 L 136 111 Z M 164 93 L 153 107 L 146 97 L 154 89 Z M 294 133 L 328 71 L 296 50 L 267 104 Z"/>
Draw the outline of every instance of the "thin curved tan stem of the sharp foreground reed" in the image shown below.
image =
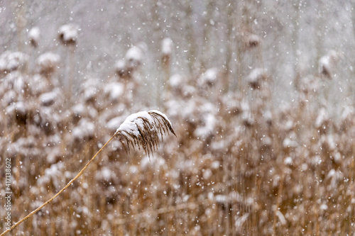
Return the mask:
<path id="1" fill-rule="evenodd" d="M 74 177 L 74 179 L 72 179 L 71 181 L 69 181 L 69 183 L 67 183 L 67 185 L 64 186 L 64 188 L 62 188 L 58 193 L 55 194 L 55 196 L 53 196 L 52 198 L 50 198 L 48 201 L 46 201 L 45 203 L 43 203 L 41 206 L 39 206 L 37 209 L 33 210 L 31 213 L 29 213 L 28 215 L 26 215 L 24 218 L 22 218 L 20 221 L 18 221 L 17 223 L 15 223 L 14 225 L 12 225 L 8 230 L 4 231 L 1 233 L 0 236 L 3 236 L 6 234 L 6 232 L 10 232 L 11 230 L 13 230 L 17 225 L 20 225 L 21 223 L 23 223 L 23 221 L 27 220 L 28 218 L 30 218 L 33 214 L 35 214 L 36 212 L 38 212 L 38 210 L 42 209 L 45 205 L 47 205 L 48 203 L 50 203 L 51 201 L 54 200 L 54 198 L 56 198 L 60 193 L 62 193 L 63 191 L 65 191 L 65 189 L 67 189 L 67 187 L 70 186 L 70 184 L 72 184 L 77 178 L 79 178 L 82 173 L 84 172 L 85 169 L 87 169 L 87 167 L 89 166 L 89 164 L 95 159 L 95 157 L 97 157 L 97 155 L 104 149 L 104 147 L 106 147 L 106 145 L 109 144 L 109 142 L 111 142 L 111 140 L 116 136 L 116 133 L 109 139 L 109 141 L 107 141 L 104 146 L 102 146 L 100 148 L 100 150 L 94 154 L 94 157 L 92 157 L 92 159 L 89 160 L 89 162 L 87 162 L 87 164 L 82 168 L 82 170 L 77 174 L 77 176 Z"/>

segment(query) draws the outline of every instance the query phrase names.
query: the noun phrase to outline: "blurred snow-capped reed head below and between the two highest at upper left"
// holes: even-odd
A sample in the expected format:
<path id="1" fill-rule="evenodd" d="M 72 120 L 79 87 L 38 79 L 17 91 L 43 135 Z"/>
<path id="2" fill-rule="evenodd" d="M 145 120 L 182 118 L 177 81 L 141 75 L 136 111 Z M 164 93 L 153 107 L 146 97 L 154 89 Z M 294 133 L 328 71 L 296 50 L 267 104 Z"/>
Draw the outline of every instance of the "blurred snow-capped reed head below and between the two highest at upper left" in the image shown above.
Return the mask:
<path id="1" fill-rule="evenodd" d="M 58 68 L 59 63 L 60 56 L 53 52 L 45 52 L 44 54 L 40 55 L 37 60 L 39 72 L 45 77 L 53 74 L 53 72 L 55 72 L 55 70 Z"/>

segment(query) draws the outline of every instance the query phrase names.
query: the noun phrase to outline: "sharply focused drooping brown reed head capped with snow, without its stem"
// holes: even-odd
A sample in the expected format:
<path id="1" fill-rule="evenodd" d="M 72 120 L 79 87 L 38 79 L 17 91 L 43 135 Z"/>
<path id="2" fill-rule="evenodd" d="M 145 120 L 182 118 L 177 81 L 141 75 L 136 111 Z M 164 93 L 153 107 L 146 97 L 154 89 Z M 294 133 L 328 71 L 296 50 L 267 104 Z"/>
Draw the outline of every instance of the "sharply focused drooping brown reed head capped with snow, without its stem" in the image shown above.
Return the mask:
<path id="1" fill-rule="evenodd" d="M 119 126 L 115 135 L 123 141 L 126 151 L 137 145 L 150 156 L 158 148 L 160 140 L 163 140 L 163 135 L 169 131 L 175 135 L 170 120 L 160 111 L 153 110 L 131 114 Z"/>

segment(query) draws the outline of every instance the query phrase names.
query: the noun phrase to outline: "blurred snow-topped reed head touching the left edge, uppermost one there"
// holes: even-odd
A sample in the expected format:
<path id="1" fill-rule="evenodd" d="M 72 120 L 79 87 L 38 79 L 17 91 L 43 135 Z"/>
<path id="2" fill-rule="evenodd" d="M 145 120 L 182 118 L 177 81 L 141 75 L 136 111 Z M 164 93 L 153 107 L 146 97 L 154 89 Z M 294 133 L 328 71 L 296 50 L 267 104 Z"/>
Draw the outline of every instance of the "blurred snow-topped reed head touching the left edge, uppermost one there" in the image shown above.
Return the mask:
<path id="1" fill-rule="evenodd" d="M 0 55 L 0 73 L 8 73 L 25 67 L 28 62 L 28 55 L 23 52 L 6 51 Z"/>

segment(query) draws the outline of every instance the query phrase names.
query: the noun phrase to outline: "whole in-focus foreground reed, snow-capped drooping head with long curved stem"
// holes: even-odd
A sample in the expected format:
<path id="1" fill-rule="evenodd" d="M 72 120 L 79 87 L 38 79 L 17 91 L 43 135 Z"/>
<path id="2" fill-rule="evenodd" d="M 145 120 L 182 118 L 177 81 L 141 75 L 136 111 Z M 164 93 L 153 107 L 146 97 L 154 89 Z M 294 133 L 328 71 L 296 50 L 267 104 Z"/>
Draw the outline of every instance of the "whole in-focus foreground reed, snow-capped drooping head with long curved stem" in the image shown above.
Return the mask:
<path id="1" fill-rule="evenodd" d="M 102 145 L 100 150 L 94 154 L 94 157 L 92 157 L 92 159 L 87 162 L 87 164 L 72 180 L 67 183 L 67 185 L 58 191 L 55 196 L 50 198 L 48 201 L 45 201 L 45 203 L 43 203 L 41 206 L 12 225 L 8 230 L 2 232 L 0 236 L 5 235 L 6 232 L 13 230 L 13 228 L 23 223 L 23 221 L 30 218 L 33 214 L 37 213 L 38 210 L 42 209 L 48 203 L 53 201 L 57 196 L 60 195 L 60 193 L 65 191 L 67 187 L 69 187 L 77 178 L 83 174 L 84 170 L 87 169 L 89 164 L 94 161 L 95 157 L 97 157 L 97 155 L 102 152 L 102 150 L 104 150 L 104 147 L 106 147 L 109 142 L 114 139 L 114 137 L 119 137 L 121 140 L 125 141 L 122 142 L 122 145 L 124 145 L 126 151 L 129 151 L 130 147 L 134 148 L 137 145 L 139 149 L 142 148 L 146 154 L 150 156 L 155 150 L 157 150 L 159 142 L 163 140 L 163 135 L 168 134 L 169 132 L 175 135 L 170 120 L 165 116 L 164 113 L 161 113 L 160 111 L 141 111 L 131 114 L 131 116 L 127 117 L 126 120 L 124 120 L 124 123 L 119 126 L 114 135 L 112 135 L 111 138 L 104 145 Z"/>

